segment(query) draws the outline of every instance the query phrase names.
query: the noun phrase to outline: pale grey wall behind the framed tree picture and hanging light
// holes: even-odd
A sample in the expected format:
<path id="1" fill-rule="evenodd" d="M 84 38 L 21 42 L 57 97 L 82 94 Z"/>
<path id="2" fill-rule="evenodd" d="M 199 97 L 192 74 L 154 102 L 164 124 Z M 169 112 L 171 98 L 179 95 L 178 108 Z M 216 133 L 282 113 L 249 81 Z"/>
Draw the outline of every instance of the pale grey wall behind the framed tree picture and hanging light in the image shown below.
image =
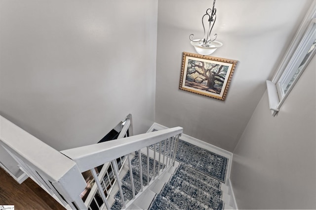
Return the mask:
<path id="1" fill-rule="evenodd" d="M 217 0 L 211 56 L 239 60 L 226 101 L 179 90 L 182 52 L 201 38 L 211 0 L 159 0 L 156 122 L 233 151 L 312 0 Z"/>

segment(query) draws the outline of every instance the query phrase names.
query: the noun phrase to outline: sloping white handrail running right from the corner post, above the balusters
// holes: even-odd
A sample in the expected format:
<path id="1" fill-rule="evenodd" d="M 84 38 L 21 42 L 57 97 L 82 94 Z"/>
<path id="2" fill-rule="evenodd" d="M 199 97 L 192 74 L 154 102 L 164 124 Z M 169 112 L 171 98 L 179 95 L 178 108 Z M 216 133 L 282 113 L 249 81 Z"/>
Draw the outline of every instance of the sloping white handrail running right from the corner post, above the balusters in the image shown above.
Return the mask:
<path id="1" fill-rule="evenodd" d="M 161 139 L 181 134 L 182 131 L 182 127 L 174 127 L 60 152 L 74 160 L 79 170 L 84 172 L 125 154 L 156 144 Z"/>

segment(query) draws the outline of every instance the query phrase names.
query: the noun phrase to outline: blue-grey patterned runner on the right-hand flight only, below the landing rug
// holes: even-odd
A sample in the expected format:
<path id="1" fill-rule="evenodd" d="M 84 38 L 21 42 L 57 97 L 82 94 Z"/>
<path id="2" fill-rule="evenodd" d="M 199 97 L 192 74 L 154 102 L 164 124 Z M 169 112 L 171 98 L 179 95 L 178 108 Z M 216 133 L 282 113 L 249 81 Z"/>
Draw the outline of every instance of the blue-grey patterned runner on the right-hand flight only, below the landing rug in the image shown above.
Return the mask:
<path id="1" fill-rule="evenodd" d="M 218 180 L 203 178 L 196 169 L 180 164 L 171 180 L 156 196 L 150 210 L 199 209 L 223 210 L 222 191 Z M 204 175 L 205 177 L 206 175 Z M 184 178 L 184 179 L 182 179 Z"/>

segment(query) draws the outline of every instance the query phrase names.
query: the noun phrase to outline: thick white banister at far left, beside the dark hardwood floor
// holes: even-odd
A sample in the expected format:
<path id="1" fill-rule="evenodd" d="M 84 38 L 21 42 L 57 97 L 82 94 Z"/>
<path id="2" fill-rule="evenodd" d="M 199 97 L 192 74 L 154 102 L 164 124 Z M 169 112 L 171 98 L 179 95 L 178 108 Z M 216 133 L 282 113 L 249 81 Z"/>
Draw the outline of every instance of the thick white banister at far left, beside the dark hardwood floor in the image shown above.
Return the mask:
<path id="1" fill-rule="evenodd" d="M 47 192 L 58 191 L 71 206 L 83 207 L 79 194 L 84 181 L 76 162 L 0 116 L 0 144 L 19 160 L 20 167 Z M 38 174 L 38 175 L 37 175 Z M 52 189 L 47 183 L 53 185 Z"/>

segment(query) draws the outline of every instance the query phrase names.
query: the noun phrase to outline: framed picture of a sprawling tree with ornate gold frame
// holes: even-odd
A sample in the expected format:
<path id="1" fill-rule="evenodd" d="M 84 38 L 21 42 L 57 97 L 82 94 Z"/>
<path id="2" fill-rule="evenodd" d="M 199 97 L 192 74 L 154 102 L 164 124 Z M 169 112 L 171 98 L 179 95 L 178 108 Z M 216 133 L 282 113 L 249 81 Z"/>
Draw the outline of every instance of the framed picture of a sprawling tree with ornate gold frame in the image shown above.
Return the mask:
<path id="1" fill-rule="evenodd" d="M 183 52 L 179 88 L 225 101 L 237 62 Z"/>

